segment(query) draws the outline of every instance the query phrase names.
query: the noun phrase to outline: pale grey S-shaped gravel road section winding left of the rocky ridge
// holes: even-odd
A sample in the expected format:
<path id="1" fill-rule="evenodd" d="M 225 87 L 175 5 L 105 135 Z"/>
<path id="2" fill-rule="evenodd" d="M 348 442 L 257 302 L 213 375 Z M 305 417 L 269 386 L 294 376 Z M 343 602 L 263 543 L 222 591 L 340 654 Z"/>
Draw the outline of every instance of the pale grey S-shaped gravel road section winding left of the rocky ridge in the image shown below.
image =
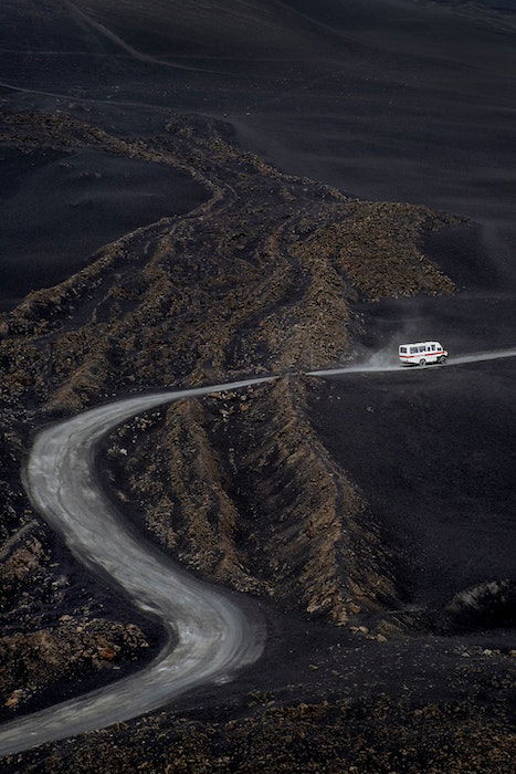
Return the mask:
<path id="1" fill-rule="evenodd" d="M 92 461 L 99 438 L 136 414 L 272 378 L 137 396 L 85 411 L 36 437 L 24 471 L 34 508 L 83 564 L 107 573 L 141 610 L 155 613 L 168 638 L 141 671 L 3 725 L 1 755 L 129 720 L 260 657 L 265 639 L 260 619 L 140 544 L 106 502 Z"/>

